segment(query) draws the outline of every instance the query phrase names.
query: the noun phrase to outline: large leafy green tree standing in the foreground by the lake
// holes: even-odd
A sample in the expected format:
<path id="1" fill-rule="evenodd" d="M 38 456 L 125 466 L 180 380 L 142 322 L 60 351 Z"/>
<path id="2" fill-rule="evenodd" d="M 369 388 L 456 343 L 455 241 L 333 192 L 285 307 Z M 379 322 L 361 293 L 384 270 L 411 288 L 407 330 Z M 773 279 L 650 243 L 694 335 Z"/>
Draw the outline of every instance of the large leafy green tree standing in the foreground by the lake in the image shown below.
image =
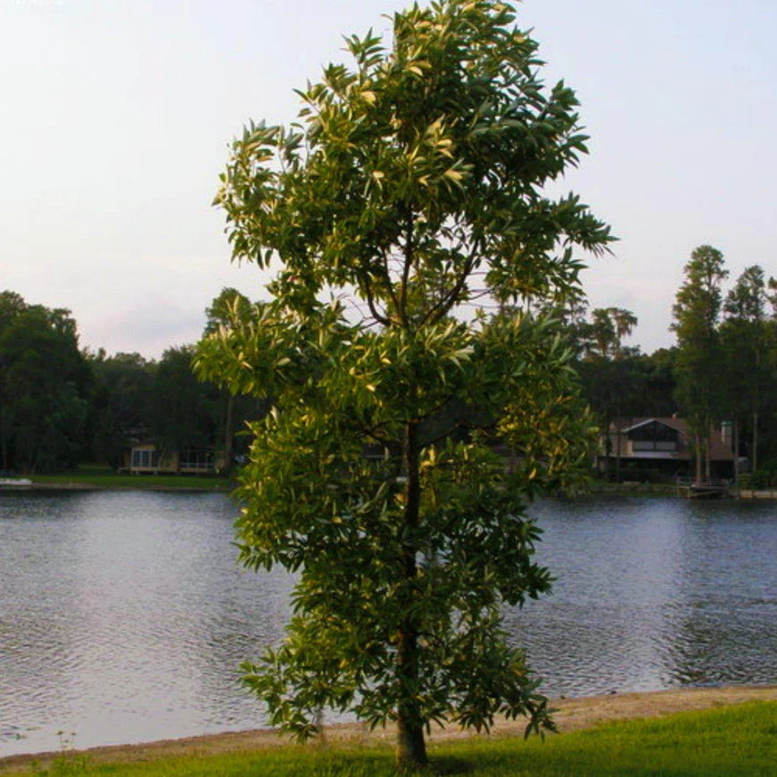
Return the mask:
<path id="1" fill-rule="evenodd" d="M 291 129 L 246 129 L 217 196 L 234 258 L 277 272 L 196 365 L 272 399 L 241 474 L 241 558 L 298 573 L 287 638 L 246 682 L 302 738 L 322 707 L 396 722 L 405 764 L 432 722 L 553 725 L 500 608 L 550 586 L 524 505 L 573 477 L 591 423 L 552 323 L 471 309 L 568 299 L 574 247 L 610 238 L 577 197 L 542 193 L 585 137 L 513 22 L 443 0 L 394 16 L 390 46 L 348 39 L 352 69 L 300 93 Z"/>

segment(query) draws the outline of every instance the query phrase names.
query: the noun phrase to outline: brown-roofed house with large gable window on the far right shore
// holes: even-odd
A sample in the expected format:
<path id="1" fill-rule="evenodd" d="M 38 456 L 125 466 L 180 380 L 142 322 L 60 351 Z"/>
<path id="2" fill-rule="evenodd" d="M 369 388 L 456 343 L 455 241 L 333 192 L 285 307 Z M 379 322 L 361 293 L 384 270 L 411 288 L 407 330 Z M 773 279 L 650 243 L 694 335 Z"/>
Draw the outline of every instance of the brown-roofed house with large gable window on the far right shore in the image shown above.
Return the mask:
<path id="1" fill-rule="evenodd" d="M 730 435 L 710 430 L 710 470 L 714 478 L 734 477 Z M 695 469 L 694 436 L 685 418 L 616 418 L 603 435 L 596 468 L 612 472 L 616 460 L 621 478 L 668 480 L 690 477 Z"/>

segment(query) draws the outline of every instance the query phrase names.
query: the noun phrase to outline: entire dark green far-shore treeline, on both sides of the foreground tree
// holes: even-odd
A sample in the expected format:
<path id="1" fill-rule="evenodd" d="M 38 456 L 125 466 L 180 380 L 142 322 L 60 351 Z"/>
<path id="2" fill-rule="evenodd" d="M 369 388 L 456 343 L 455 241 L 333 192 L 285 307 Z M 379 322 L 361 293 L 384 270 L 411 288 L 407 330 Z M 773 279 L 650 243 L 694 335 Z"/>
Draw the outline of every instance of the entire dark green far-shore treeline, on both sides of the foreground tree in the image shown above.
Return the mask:
<path id="1" fill-rule="evenodd" d="M 575 352 L 603 429 L 616 418 L 676 413 L 688 419 L 703 470 L 709 429 L 727 422 L 739 455 L 766 485 L 777 480 L 777 283 L 757 265 L 728 289 L 727 279 L 720 251 L 696 249 L 673 308 L 677 344 L 651 354 L 625 344 L 638 324 L 629 310 L 578 303 L 545 312 Z M 249 304 L 224 289 L 205 311 L 204 333 Z M 170 348 L 158 360 L 80 350 L 69 310 L 0 293 L 0 469 L 33 473 L 80 461 L 118 468 L 141 439 L 232 461 L 247 440 L 239 434 L 245 421 L 266 405 L 199 382 L 194 348 Z"/>

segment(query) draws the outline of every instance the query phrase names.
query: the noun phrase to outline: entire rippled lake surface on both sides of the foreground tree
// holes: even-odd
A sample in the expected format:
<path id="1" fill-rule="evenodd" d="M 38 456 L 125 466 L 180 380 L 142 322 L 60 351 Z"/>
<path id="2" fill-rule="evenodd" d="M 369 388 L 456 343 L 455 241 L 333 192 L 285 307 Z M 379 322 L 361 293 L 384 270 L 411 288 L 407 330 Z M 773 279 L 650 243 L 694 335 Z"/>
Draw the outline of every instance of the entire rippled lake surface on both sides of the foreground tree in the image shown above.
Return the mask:
<path id="1" fill-rule="evenodd" d="M 777 682 L 777 504 L 542 503 L 553 596 L 506 613 L 545 692 Z M 0 756 L 264 723 L 238 665 L 291 578 L 222 494 L 0 494 Z"/>

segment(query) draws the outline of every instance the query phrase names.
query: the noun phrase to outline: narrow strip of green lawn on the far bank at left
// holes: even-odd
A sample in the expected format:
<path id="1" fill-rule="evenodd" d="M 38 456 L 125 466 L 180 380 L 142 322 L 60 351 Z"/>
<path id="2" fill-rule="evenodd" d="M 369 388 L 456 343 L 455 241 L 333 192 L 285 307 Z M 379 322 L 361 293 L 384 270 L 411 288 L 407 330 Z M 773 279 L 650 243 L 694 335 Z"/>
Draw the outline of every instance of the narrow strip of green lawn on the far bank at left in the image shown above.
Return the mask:
<path id="1" fill-rule="evenodd" d="M 33 475 L 33 484 L 42 486 L 78 486 L 81 488 L 181 488 L 198 491 L 231 491 L 234 481 L 230 477 L 215 475 L 131 475 L 116 472 L 101 465 L 82 464 L 79 469 L 58 472 L 54 475 Z"/>

